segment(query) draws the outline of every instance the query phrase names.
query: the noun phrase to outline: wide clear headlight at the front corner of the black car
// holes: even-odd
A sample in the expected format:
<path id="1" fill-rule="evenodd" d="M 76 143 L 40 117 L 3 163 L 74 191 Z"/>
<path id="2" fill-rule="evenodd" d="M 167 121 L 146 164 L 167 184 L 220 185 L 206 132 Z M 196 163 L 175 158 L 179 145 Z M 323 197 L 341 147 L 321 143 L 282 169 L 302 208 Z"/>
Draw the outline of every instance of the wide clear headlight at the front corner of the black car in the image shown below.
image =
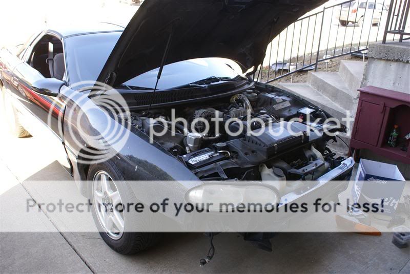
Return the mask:
<path id="1" fill-rule="evenodd" d="M 203 184 L 190 189 L 186 201 L 198 207 L 212 203 L 209 209 L 219 212 L 222 208 L 232 210 L 241 203 L 247 207 L 250 203 L 276 204 L 279 195 L 273 189 L 259 185 Z"/>

